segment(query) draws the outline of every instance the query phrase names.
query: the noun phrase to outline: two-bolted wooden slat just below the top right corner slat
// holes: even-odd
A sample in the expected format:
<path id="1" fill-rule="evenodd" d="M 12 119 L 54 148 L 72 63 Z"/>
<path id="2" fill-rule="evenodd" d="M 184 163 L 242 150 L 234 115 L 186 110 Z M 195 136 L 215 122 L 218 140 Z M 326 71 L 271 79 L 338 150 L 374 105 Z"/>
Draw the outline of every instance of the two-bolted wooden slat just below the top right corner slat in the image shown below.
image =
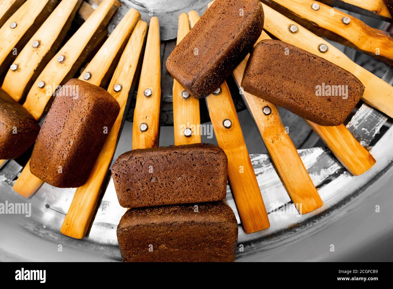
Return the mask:
<path id="1" fill-rule="evenodd" d="M 393 37 L 358 18 L 314 0 L 264 0 L 270 7 L 317 35 L 393 64 Z M 318 4 L 319 9 L 312 8 Z M 294 32 L 296 33 L 296 32 Z"/>

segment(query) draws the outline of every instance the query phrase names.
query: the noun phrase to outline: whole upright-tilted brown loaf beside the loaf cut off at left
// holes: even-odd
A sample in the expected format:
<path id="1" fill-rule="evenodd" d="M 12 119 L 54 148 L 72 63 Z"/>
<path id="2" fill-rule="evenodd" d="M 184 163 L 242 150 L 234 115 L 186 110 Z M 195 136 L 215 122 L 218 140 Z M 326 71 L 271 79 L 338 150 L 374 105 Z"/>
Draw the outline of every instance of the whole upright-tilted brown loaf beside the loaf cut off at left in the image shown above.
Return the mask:
<path id="1" fill-rule="evenodd" d="M 33 175 L 58 188 L 82 186 L 120 107 L 109 92 L 79 79 L 59 90 L 30 159 Z"/>

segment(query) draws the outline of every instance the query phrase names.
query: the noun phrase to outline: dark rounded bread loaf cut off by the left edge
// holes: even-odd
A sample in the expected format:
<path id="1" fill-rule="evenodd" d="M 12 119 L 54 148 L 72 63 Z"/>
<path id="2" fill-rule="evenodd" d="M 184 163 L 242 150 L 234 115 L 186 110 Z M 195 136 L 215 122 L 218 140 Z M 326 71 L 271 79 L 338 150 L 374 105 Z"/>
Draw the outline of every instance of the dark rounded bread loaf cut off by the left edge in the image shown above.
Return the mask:
<path id="1" fill-rule="evenodd" d="M 0 159 L 22 155 L 40 131 L 40 126 L 29 112 L 0 88 Z"/>

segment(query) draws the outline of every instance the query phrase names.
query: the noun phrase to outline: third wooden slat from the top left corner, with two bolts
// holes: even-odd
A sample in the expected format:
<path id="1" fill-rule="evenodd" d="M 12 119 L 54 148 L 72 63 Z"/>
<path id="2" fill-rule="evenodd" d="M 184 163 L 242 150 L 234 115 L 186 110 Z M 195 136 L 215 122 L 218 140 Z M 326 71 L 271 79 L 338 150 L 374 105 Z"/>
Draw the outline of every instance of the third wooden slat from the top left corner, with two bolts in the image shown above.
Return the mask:
<path id="1" fill-rule="evenodd" d="M 18 68 L 8 70 L 2 86 L 13 99 L 19 101 L 26 96 L 32 83 L 55 55 L 81 3 L 82 0 L 62 0 L 18 53 L 14 61 Z"/>

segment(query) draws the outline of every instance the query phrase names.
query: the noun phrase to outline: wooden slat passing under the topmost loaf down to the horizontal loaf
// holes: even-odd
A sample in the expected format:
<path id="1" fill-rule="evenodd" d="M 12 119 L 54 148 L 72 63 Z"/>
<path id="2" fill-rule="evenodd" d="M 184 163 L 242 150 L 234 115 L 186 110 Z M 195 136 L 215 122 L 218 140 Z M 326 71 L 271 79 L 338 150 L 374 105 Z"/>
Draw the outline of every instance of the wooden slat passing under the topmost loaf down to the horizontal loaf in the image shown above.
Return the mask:
<path id="1" fill-rule="evenodd" d="M 180 14 L 177 31 L 177 44 L 190 31 L 188 15 Z M 190 96 L 187 91 L 173 79 L 173 129 L 174 144 L 195 144 L 201 142 L 198 127 L 200 125 L 199 99 Z M 191 135 L 188 133 L 191 130 Z"/>

